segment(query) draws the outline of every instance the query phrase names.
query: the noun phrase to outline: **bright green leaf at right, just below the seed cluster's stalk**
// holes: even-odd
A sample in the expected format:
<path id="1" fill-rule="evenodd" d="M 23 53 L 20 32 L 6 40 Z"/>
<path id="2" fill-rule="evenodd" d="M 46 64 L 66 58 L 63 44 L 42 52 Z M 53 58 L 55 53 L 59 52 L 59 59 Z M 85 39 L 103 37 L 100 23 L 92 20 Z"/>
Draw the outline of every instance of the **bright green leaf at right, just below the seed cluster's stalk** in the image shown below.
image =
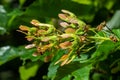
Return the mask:
<path id="1" fill-rule="evenodd" d="M 91 58 L 96 59 L 96 61 L 105 60 L 108 55 L 114 51 L 114 48 L 114 42 L 106 40 L 98 45 L 97 50 L 93 53 Z"/>

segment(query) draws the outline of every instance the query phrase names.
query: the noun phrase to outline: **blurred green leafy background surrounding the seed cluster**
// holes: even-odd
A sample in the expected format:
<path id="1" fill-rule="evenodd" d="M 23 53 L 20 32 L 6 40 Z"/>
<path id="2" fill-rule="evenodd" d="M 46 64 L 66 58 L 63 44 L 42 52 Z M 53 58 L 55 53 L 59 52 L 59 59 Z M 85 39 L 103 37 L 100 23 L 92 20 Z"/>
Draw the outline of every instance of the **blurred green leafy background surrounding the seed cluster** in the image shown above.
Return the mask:
<path id="1" fill-rule="evenodd" d="M 58 25 L 57 16 L 61 9 L 75 13 L 79 19 L 95 27 L 102 21 L 109 21 L 120 9 L 119 3 L 119 0 L 0 0 L 0 80 L 120 80 L 120 42 L 105 41 L 97 50 L 91 50 L 63 67 L 54 65 L 64 53 L 60 50 L 48 67 L 43 63 L 45 55 L 33 57 L 35 50 L 26 50 L 25 35 L 16 31 L 21 24 L 32 26 L 29 24 L 32 19 Z M 111 22 L 119 23 L 119 20 Z M 112 31 L 120 38 L 120 29 Z M 13 68 L 17 70 L 17 76 L 8 78 L 4 75 L 6 78 L 3 78 L 6 71 L 13 70 L 12 74 L 16 74 Z"/>

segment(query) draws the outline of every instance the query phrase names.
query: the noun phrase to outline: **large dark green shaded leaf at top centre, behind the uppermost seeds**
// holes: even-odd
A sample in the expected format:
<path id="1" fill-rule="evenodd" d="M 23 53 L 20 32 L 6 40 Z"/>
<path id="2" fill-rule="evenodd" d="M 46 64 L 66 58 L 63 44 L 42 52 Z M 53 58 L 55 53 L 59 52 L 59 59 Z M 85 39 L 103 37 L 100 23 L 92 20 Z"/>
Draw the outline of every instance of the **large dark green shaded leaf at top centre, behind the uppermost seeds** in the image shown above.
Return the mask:
<path id="1" fill-rule="evenodd" d="M 54 5 L 53 5 L 54 4 Z M 67 6 L 67 5 L 69 6 Z M 57 6 L 57 7 L 56 7 Z M 32 5 L 30 5 L 25 15 L 31 16 L 34 18 L 41 18 L 41 17 L 55 17 L 57 18 L 58 13 L 62 9 L 67 9 L 69 11 L 72 11 L 73 13 L 77 15 L 86 15 L 89 13 L 89 11 L 92 9 L 91 5 L 84 5 L 84 4 L 78 4 L 73 1 L 69 0 L 36 0 Z M 84 10 L 84 11 L 81 11 Z M 81 12 L 79 12 L 81 11 Z"/>

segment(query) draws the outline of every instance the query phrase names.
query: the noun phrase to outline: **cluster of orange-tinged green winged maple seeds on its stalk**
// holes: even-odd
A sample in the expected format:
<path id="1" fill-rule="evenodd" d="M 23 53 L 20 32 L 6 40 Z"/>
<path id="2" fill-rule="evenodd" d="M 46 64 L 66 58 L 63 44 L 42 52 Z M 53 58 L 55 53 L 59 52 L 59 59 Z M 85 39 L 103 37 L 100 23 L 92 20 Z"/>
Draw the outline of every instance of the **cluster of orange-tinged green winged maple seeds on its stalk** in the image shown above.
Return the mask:
<path id="1" fill-rule="evenodd" d="M 106 26 L 105 22 L 103 22 L 97 28 L 90 28 L 89 25 L 79 20 L 73 13 L 67 10 L 62 10 L 62 12 L 58 15 L 62 20 L 60 22 L 63 28 L 62 31 L 56 29 L 53 25 L 40 23 L 37 20 L 31 21 L 34 27 L 21 25 L 19 27 L 20 30 L 18 30 L 26 35 L 28 41 L 32 42 L 32 44 L 27 45 L 25 48 L 36 48 L 33 56 L 42 55 L 46 51 L 51 53 L 45 57 L 45 61 L 49 61 L 54 55 L 59 55 L 56 53 L 56 50 L 67 50 L 67 53 L 55 63 L 61 63 L 61 66 L 70 63 L 81 52 L 85 53 L 94 48 L 94 46 L 86 46 L 94 43 L 95 39 L 104 39 L 97 36 L 96 33 Z M 114 36 L 105 39 L 117 41 Z"/>

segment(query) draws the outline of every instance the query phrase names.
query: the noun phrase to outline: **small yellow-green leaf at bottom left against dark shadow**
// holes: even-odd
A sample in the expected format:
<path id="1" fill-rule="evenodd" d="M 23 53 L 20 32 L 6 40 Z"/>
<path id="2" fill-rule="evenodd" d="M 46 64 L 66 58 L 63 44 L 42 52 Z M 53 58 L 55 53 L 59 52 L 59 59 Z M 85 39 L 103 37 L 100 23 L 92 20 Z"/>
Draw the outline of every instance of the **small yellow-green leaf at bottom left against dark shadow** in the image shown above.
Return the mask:
<path id="1" fill-rule="evenodd" d="M 34 77 L 36 75 L 38 68 L 39 68 L 38 64 L 32 65 L 29 68 L 21 66 L 19 68 L 21 80 L 29 80 L 30 77 Z"/>

